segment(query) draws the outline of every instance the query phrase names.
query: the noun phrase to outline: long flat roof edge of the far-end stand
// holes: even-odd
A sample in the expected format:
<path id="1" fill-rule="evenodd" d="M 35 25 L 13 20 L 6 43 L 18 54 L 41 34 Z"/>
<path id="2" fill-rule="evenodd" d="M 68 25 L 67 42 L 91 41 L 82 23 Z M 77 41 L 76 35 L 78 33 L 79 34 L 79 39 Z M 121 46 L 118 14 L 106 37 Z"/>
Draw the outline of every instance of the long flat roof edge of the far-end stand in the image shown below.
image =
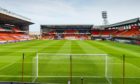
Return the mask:
<path id="1" fill-rule="evenodd" d="M 85 27 L 85 28 L 92 28 L 93 25 L 88 25 L 88 24 L 64 24 L 64 25 L 41 25 L 41 28 L 68 28 L 68 27 Z"/>

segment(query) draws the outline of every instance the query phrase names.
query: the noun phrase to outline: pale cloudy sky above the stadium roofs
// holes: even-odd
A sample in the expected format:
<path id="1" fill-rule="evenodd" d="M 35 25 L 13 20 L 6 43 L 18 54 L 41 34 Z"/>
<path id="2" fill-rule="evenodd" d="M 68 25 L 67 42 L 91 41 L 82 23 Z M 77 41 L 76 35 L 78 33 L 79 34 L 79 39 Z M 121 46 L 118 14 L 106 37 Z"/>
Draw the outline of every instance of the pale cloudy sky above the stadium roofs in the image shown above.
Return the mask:
<path id="1" fill-rule="evenodd" d="M 30 18 L 30 31 L 40 24 L 101 25 L 103 10 L 110 24 L 140 16 L 140 0 L 0 0 L 0 7 Z"/>

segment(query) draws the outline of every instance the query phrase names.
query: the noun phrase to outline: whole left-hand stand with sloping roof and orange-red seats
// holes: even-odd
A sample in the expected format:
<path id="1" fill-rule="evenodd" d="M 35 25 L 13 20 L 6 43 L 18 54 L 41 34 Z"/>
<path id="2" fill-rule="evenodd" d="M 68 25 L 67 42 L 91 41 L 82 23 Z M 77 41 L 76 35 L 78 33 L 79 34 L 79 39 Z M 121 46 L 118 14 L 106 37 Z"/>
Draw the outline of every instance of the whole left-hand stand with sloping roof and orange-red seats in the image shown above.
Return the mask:
<path id="1" fill-rule="evenodd" d="M 30 40 L 30 19 L 0 8 L 0 43 Z"/>

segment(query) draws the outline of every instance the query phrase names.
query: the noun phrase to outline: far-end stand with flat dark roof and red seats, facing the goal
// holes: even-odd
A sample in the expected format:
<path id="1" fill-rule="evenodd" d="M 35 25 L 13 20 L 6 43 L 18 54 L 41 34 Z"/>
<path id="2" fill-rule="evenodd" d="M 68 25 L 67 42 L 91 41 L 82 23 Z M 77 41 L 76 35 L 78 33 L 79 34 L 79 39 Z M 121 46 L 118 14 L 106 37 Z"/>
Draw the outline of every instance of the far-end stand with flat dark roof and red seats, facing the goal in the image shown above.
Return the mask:
<path id="1" fill-rule="evenodd" d="M 42 25 L 42 39 L 88 40 L 92 25 Z"/>

